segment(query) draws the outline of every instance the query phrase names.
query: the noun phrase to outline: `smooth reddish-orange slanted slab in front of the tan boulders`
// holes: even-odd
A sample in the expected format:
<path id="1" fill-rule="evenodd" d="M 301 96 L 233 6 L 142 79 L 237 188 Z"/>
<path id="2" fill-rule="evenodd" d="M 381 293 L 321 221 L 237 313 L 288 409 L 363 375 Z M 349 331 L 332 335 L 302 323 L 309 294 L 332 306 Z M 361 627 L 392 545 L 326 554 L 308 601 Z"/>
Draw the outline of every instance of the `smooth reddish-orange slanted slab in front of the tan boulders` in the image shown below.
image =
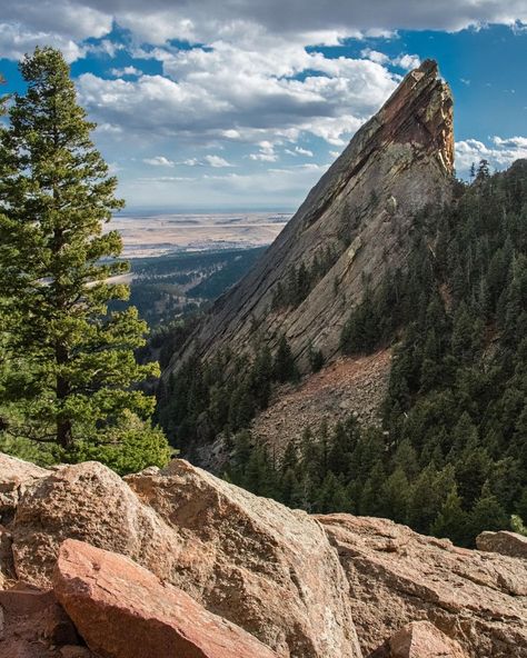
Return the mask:
<path id="1" fill-rule="evenodd" d="M 111 658 L 278 658 L 130 559 L 63 542 L 54 591 L 88 646 Z"/>

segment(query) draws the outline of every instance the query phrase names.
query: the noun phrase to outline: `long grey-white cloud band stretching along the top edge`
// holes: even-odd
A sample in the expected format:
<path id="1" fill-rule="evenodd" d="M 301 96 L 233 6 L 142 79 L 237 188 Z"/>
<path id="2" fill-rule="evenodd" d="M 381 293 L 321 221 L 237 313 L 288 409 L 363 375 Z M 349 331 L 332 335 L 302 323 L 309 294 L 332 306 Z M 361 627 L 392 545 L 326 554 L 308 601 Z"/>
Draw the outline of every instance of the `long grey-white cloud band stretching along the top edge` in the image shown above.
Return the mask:
<path id="1" fill-rule="evenodd" d="M 253 26 L 269 34 L 304 34 L 310 43 L 337 43 L 346 37 L 382 36 L 397 29 L 460 30 L 469 26 L 527 22 L 525 0 L 394 0 L 324 2 L 305 0 L 18 0 L 2 8 L 2 20 L 33 32 L 68 40 L 102 38 L 112 21 L 128 28 L 138 42 L 165 43 L 230 40 Z"/>

